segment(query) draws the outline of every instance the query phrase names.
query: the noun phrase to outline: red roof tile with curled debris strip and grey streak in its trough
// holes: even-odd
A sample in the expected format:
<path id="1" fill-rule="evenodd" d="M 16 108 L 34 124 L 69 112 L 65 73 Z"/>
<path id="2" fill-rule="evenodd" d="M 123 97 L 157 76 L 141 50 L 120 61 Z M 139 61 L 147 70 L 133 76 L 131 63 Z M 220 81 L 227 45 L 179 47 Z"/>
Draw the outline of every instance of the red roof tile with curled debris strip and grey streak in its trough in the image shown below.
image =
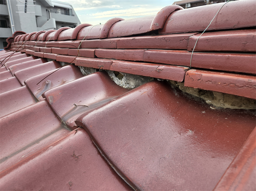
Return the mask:
<path id="1" fill-rule="evenodd" d="M 75 119 L 85 111 L 126 93 L 101 71 L 52 88 L 43 94 L 56 115 L 74 130 Z M 79 92 L 79 93 L 78 93 Z M 65 104 L 63 104 L 65 103 Z"/>

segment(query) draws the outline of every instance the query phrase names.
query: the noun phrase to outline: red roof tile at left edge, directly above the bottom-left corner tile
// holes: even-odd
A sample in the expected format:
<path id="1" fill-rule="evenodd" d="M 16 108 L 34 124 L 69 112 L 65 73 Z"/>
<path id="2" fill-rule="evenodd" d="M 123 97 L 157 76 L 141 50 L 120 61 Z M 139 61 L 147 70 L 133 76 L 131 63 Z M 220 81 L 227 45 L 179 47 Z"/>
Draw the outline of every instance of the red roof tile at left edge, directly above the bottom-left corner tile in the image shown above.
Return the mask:
<path id="1" fill-rule="evenodd" d="M 0 153 L 2 172 L 70 132 L 46 101 L 9 114 L 0 124 L 1 148 L 5 150 Z"/>

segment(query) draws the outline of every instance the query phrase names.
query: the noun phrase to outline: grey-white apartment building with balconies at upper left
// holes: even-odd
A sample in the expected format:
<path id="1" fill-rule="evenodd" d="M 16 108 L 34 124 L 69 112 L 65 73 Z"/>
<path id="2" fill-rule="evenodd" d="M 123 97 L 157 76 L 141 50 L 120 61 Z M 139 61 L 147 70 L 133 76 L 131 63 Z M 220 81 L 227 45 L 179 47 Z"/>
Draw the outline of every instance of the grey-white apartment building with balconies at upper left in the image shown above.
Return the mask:
<path id="1" fill-rule="evenodd" d="M 24 2 L 24 3 L 23 3 Z M 0 0 L 0 49 L 15 31 L 26 33 L 81 24 L 72 5 L 55 0 Z"/>

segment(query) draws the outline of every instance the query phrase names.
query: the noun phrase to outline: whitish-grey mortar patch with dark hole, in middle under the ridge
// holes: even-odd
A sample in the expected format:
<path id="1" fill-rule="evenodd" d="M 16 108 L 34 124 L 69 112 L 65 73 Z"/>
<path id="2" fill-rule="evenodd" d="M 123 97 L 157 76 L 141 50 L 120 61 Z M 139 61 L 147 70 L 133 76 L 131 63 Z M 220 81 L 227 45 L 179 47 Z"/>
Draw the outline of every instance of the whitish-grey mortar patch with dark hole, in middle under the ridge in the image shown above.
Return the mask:
<path id="1" fill-rule="evenodd" d="M 111 80 L 113 80 L 117 85 L 126 89 L 134 89 L 151 80 L 154 80 L 154 78 L 151 78 L 148 76 L 127 74 L 127 73 L 115 72 L 111 70 L 106 70 L 106 71 L 109 74 Z"/>

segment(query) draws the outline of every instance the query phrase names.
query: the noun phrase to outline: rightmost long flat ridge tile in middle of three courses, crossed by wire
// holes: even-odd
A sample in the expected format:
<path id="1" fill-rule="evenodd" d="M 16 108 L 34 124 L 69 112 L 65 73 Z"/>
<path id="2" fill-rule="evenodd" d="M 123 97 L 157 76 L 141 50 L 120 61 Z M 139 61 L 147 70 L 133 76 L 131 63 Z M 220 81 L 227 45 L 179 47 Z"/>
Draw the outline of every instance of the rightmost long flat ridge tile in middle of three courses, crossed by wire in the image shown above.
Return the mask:
<path id="1" fill-rule="evenodd" d="M 190 66 L 191 54 L 183 50 L 146 50 L 144 62 Z M 255 53 L 194 52 L 191 67 L 256 74 L 255 62 Z"/>

